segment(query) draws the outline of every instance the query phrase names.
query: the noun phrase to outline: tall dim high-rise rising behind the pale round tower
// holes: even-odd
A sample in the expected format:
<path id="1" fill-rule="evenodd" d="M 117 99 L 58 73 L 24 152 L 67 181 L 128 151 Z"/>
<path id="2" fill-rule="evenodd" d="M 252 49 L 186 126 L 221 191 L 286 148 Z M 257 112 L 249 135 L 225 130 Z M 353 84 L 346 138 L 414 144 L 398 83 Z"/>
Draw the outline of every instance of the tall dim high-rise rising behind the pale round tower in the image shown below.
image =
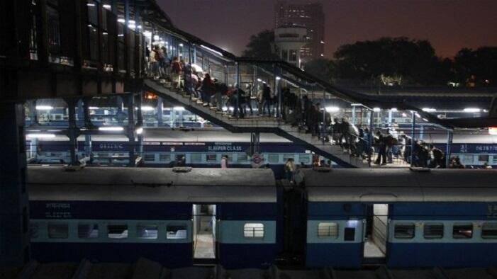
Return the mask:
<path id="1" fill-rule="evenodd" d="M 274 27 L 298 26 L 307 29 L 307 43 L 301 48 L 303 63 L 324 55 L 325 14 L 323 4 L 288 4 L 277 2 L 274 8 Z"/>

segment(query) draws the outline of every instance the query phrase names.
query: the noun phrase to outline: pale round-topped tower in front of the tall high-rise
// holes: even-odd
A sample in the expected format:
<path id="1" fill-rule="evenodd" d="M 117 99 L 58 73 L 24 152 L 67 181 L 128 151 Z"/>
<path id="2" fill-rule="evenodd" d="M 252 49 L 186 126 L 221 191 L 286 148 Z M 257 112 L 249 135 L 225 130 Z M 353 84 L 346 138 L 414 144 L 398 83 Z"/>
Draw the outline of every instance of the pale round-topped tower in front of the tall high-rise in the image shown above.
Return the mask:
<path id="1" fill-rule="evenodd" d="M 301 50 L 307 42 L 307 30 L 293 25 L 274 28 L 273 53 L 281 60 L 301 67 Z"/>

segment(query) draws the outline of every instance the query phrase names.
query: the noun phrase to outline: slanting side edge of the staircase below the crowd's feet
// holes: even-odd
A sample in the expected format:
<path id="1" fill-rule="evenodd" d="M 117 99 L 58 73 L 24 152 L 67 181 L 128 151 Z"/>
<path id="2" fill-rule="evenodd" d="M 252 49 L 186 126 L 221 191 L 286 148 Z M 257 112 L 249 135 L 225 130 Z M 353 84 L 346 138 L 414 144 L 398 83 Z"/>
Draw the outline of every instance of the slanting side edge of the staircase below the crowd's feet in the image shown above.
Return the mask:
<path id="1" fill-rule="evenodd" d="M 182 91 L 175 91 L 167 88 L 158 80 L 145 79 L 145 90 L 157 93 L 158 96 L 167 99 L 172 103 L 183 106 L 186 110 L 201 116 L 202 118 L 219 125 L 230 132 L 272 132 L 281 137 L 291 140 L 297 144 L 301 144 L 316 154 L 320 154 L 340 166 L 365 168 L 369 164 L 358 158 L 357 156 L 350 156 L 348 152 L 344 152 L 342 147 L 332 145 L 330 142 L 323 142 L 318 137 L 313 137 L 311 134 L 298 130 L 283 121 L 276 118 L 261 118 L 250 117 L 246 118 L 230 118 L 229 113 L 216 113 L 209 107 L 202 106 L 202 104 L 192 101 L 190 96 L 185 95 Z"/>

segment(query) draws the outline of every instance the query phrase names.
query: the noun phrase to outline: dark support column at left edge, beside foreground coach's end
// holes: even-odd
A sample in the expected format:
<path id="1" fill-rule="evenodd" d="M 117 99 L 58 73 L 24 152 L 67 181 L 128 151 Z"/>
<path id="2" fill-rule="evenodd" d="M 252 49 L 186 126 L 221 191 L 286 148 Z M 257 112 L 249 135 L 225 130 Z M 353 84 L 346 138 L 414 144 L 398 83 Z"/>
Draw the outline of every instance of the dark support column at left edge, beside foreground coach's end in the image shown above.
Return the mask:
<path id="1" fill-rule="evenodd" d="M 0 266 L 30 259 L 24 107 L 0 103 Z"/>

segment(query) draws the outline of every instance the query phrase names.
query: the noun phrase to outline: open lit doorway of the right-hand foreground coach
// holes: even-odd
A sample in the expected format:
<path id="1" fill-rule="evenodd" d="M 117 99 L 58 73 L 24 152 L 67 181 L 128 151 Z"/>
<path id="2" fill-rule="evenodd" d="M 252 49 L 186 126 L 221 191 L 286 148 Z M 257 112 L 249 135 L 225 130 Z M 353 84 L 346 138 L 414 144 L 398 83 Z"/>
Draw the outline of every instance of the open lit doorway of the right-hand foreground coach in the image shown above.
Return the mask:
<path id="1" fill-rule="evenodd" d="M 388 204 L 366 205 L 364 220 L 364 262 L 384 263 L 388 239 Z"/>

